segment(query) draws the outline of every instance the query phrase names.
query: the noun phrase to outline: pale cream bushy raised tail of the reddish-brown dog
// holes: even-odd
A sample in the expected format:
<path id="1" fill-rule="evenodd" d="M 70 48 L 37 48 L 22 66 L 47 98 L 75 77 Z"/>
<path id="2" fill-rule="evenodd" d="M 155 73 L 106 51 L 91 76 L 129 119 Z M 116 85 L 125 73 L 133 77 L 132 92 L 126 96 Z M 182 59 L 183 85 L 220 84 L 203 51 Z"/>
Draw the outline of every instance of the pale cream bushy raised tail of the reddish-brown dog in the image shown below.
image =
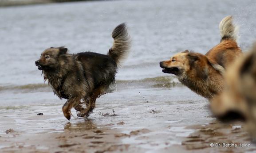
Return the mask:
<path id="1" fill-rule="evenodd" d="M 239 27 L 233 24 L 232 15 L 229 15 L 224 19 L 222 19 L 219 25 L 219 28 L 221 32 L 221 42 L 227 39 L 232 39 L 234 41 L 237 41 L 237 38 L 238 38 L 237 32 Z"/>

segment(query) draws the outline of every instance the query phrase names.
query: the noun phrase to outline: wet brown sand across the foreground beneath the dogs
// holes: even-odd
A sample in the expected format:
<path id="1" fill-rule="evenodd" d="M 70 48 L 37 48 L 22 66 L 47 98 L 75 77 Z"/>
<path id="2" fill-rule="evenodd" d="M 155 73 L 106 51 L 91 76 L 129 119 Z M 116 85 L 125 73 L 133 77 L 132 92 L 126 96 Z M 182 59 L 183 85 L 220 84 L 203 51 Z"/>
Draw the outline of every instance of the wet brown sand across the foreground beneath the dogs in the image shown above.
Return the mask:
<path id="1" fill-rule="evenodd" d="M 211 115 L 199 115 L 196 107 L 201 104 L 180 103 L 98 104 L 88 119 L 71 121 L 63 117 L 61 105 L 2 108 L 0 150 L 3 153 L 256 151 L 256 145 L 244 131 L 244 123 L 222 124 Z M 206 111 L 208 105 L 203 105 L 200 108 Z M 188 114 L 198 116 L 186 122 Z M 180 115 L 179 120 L 175 120 L 176 115 Z M 250 146 L 210 147 L 210 143 Z"/>

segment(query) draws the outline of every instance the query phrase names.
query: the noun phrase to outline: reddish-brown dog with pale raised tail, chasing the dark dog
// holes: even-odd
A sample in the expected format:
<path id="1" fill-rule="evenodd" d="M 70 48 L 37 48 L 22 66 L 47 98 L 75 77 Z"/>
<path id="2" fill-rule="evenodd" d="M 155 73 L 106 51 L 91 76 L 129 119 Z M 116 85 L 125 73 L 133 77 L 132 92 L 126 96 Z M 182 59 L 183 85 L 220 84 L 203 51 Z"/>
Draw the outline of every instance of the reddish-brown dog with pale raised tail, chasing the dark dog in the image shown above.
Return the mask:
<path id="1" fill-rule="evenodd" d="M 242 55 L 232 16 L 222 19 L 219 29 L 221 42 L 205 55 L 185 50 L 160 62 L 163 73 L 176 75 L 182 84 L 209 100 L 224 88 L 225 69 Z"/>

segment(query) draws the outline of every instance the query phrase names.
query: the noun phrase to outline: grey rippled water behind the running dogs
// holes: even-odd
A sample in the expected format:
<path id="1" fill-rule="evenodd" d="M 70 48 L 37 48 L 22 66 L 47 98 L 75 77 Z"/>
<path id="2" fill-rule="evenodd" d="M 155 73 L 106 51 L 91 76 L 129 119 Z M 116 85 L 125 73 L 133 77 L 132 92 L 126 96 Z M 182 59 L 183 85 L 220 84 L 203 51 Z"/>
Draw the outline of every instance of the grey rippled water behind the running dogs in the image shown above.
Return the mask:
<path id="1" fill-rule="evenodd" d="M 66 46 L 71 54 L 106 54 L 112 30 L 123 22 L 132 49 L 118 70 L 116 91 L 98 101 L 142 101 L 144 93 L 146 101 L 206 101 L 162 73 L 159 61 L 183 50 L 206 53 L 219 43 L 218 24 L 227 15 L 240 25 L 240 46 L 246 51 L 256 38 L 255 8 L 254 0 L 116 0 L 0 8 L 0 106 L 61 104 L 34 65 L 41 52 Z"/>

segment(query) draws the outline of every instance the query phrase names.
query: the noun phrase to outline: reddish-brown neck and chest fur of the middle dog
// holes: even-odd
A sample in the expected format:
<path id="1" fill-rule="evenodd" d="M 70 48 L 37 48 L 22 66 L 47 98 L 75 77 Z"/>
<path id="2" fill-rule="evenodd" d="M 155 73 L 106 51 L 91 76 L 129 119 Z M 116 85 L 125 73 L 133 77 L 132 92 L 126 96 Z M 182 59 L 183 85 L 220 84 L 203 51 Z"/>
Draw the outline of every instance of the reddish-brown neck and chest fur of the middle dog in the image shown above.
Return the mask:
<path id="1" fill-rule="evenodd" d="M 207 99 L 221 92 L 224 86 L 223 76 L 213 68 L 204 55 L 197 61 L 190 61 L 189 70 L 177 75 L 177 78 L 182 84 Z"/>

